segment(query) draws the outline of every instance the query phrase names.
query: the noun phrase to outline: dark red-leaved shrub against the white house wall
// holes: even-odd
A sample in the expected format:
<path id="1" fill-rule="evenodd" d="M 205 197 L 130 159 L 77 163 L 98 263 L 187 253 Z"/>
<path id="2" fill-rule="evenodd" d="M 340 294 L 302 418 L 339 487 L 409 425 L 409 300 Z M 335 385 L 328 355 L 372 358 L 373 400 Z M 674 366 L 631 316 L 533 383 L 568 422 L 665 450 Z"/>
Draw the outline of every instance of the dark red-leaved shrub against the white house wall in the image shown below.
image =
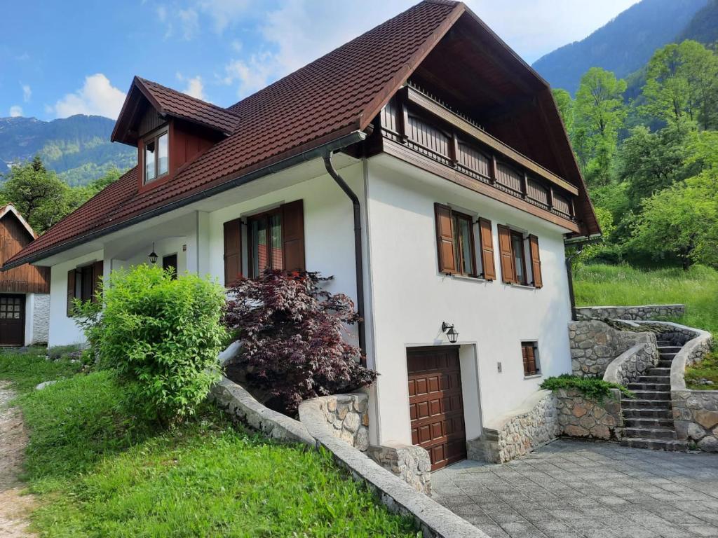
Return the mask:
<path id="1" fill-rule="evenodd" d="M 266 271 L 232 288 L 225 324 L 244 344 L 238 366 L 247 381 L 274 398 L 268 405 L 294 413 L 302 400 L 348 392 L 376 379 L 362 353 L 342 339 L 359 321 L 354 303 L 327 293 L 318 273 Z"/>

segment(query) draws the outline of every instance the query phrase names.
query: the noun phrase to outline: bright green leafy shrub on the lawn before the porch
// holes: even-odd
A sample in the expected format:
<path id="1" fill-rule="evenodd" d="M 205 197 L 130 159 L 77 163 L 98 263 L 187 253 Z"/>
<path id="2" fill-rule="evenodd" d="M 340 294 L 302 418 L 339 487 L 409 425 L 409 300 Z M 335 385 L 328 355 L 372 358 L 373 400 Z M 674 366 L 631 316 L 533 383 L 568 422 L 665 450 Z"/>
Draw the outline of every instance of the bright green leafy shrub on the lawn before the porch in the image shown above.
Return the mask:
<path id="1" fill-rule="evenodd" d="M 218 377 L 223 288 L 139 265 L 113 271 L 101 291 L 103 306 L 78 305 L 101 366 L 117 372 L 146 417 L 175 423 L 192 415 Z"/>

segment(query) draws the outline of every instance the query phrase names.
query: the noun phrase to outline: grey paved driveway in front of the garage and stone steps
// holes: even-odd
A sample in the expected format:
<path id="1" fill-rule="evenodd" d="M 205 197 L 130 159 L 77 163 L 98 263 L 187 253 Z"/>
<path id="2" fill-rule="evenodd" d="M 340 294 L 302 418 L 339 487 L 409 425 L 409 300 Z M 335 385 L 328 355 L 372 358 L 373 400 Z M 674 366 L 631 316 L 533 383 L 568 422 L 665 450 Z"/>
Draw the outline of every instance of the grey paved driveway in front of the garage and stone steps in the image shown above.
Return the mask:
<path id="1" fill-rule="evenodd" d="M 492 538 L 718 537 L 718 454 L 558 440 L 432 474 L 434 499 Z"/>

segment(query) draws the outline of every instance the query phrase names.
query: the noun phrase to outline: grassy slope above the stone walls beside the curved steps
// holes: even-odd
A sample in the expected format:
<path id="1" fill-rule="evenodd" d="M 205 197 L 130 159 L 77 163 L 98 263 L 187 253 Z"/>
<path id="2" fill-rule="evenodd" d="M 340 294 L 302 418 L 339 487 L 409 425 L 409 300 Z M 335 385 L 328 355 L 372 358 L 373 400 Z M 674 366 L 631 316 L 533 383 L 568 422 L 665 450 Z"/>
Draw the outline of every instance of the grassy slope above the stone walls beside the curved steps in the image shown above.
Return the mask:
<path id="1" fill-rule="evenodd" d="M 684 303 L 675 321 L 718 335 L 718 271 L 694 266 L 643 270 L 628 265 L 584 265 L 574 273 L 578 306 Z"/>

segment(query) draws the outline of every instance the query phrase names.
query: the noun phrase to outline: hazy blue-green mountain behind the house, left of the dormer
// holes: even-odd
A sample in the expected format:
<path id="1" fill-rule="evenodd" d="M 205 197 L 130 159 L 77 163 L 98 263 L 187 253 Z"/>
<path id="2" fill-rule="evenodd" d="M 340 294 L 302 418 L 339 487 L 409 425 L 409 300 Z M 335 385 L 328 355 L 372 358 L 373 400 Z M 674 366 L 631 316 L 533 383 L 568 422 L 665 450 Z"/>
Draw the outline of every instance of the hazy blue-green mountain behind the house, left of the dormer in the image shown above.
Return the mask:
<path id="1" fill-rule="evenodd" d="M 36 154 L 73 186 L 97 179 L 111 168 L 127 169 L 136 163 L 137 150 L 110 142 L 114 125 L 114 120 L 98 115 L 53 121 L 0 118 L 0 174 Z"/>

